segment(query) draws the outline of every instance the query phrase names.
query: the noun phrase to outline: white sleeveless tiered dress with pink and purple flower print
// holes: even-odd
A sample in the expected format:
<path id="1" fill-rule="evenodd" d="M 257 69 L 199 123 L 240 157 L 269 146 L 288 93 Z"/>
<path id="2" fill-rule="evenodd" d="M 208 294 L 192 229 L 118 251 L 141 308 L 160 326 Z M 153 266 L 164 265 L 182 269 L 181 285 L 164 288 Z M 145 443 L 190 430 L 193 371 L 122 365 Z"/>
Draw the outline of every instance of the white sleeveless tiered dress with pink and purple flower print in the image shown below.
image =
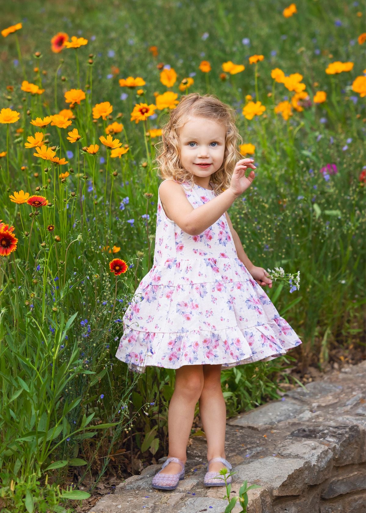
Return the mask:
<path id="1" fill-rule="evenodd" d="M 216 195 L 180 185 L 193 208 Z M 225 213 L 189 235 L 167 217 L 159 191 L 153 266 L 129 303 L 123 328 L 116 358 L 135 372 L 269 361 L 301 344 L 238 259 Z"/>

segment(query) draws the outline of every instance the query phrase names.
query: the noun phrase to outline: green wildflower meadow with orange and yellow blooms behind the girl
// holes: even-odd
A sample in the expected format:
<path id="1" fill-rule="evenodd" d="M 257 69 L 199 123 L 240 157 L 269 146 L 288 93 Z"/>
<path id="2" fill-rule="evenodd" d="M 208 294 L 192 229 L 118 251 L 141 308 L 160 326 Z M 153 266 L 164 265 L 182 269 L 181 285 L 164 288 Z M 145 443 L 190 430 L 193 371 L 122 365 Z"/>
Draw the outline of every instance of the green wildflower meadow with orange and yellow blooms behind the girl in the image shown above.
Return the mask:
<path id="1" fill-rule="evenodd" d="M 186 93 L 236 109 L 257 169 L 229 213 L 254 265 L 286 271 L 265 290 L 303 342 L 223 370 L 228 415 L 363 354 L 364 15 L 331 0 L 3 6 L 2 511 L 82 508 L 167 452 L 174 372 L 135 376 L 114 354 L 153 265 L 159 129 Z"/>

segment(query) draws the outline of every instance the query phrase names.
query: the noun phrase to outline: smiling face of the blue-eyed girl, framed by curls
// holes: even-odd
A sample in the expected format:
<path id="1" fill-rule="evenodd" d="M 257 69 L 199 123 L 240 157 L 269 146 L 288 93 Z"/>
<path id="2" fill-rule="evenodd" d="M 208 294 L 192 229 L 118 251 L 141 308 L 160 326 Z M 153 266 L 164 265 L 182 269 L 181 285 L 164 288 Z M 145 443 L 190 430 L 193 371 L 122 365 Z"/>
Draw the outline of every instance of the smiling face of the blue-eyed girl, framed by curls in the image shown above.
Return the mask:
<path id="1" fill-rule="evenodd" d="M 225 137 L 226 127 L 205 117 L 191 117 L 179 129 L 180 162 L 197 177 L 198 185 L 208 185 L 211 174 L 220 169 Z"/>

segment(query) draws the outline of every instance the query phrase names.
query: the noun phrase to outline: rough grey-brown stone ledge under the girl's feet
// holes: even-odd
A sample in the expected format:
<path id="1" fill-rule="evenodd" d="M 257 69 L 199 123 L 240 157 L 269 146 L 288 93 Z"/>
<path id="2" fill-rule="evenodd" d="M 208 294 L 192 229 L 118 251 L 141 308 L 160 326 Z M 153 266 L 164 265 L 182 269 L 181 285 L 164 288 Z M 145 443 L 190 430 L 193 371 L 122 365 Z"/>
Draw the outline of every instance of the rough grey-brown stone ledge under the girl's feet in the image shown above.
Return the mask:
<path id="1" fill-rule="evenodd" d="M 366 362 L 334 371 L 227 423 L 226 457 L 248 492 L 248 513 L 364 513 Z M 206 440 L 187 448 L 186 478 L 172 491 L 155 490 L 150 465 L 120 483 L 89 513 L 223 513 L 225 488 L 206 488 Z M 233 513 L 241 511 L 237 504 Z"/>

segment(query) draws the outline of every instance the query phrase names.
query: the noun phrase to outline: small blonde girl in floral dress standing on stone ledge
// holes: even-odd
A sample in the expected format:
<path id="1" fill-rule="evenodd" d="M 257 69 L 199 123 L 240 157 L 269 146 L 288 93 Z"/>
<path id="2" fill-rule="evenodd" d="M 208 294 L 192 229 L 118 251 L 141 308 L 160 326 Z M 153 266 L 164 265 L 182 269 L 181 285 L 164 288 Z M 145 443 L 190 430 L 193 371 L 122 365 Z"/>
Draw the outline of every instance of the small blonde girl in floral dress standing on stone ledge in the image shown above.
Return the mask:
<path id="1" fill-rule="evenodd" d="M 173 490 L 184 479 L 197 401 L 207 438 L 204 484 L 225 485 L 222 476 L 214 479 L 224 465 L 231 469 L 221 367 L 272 360 L 301 344 L 261 288 L 272 281 L 247 257 L 227 213 L 255 177 L 253 159 L 237 150 L 234 115 L 213 95 L 188 94 L 170 111 L 157 151 L 165 180 L 154 263 L 124 315 L 116 353 L 136 372 L 176 369 L 169 454 L 154 488 Z"/>

